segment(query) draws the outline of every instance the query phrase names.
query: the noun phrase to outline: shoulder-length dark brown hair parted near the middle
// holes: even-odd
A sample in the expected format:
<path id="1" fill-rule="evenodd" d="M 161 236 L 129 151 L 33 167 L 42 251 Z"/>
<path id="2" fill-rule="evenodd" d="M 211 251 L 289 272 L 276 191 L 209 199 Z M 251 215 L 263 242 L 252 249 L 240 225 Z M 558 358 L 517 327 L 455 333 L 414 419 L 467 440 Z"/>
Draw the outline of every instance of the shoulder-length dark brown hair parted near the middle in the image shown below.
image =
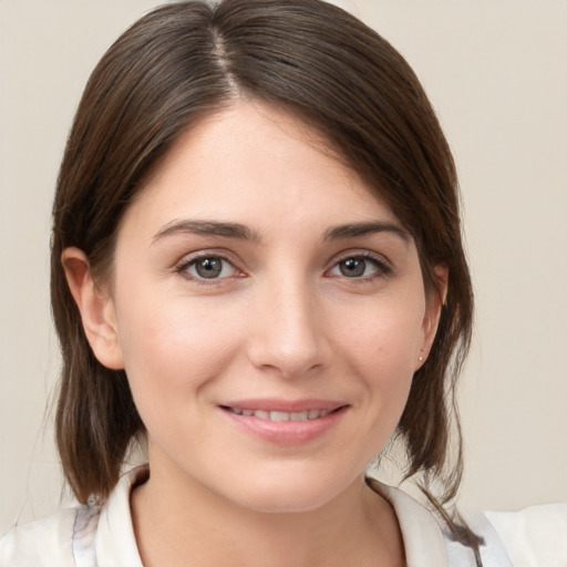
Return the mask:
<path id="1" fill-rule="evenodd" d="M 79 247 L 95 276 L 107 272 L 121 217 L 150 168 L 183 131 L 240 95 L 315 125 L 375 187 L 413 235 L 430 291 L 437 290 L 434 266 L 449 268 L 437 336 L 396 430 L 408 476 L 422 475 L 435 503 L 427 485 L 440 481 L 437 498 L 446 504 L 462 475 L 454 388 L 473 313 L 453 158 L 403 58 L 354 17 L 320 0 L 165 6 L 132 25 L 91 75 L 53 206 L 51 293 L 63 353 L 56 437 L 68 482 L 82 502 L 91 493 L 107 495 L 143 424 L 124 371 L 101 365 L 89 347 L 61 252 Z M 477 547 L 472 534 L 446 519 L 455 537 Z"/>

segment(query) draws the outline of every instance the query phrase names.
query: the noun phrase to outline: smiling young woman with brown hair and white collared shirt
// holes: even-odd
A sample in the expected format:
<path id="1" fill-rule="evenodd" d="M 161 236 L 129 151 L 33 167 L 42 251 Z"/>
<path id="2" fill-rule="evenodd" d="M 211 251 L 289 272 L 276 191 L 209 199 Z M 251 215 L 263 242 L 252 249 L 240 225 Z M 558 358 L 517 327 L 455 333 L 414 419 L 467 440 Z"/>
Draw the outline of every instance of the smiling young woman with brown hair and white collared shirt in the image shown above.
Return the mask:
<path id="1" fill-rule="evenodd" d="M 82 504 L 0 564 L 507 565 L 451 507 L 473 308 L 454 165 L 373 31 L 318 0 L 154 11 L 91 76 L 53 217 Z M 390 439 L 442 528 L 365 481 Z M 136 441 L 148 466 L 121 478 Z"/>

